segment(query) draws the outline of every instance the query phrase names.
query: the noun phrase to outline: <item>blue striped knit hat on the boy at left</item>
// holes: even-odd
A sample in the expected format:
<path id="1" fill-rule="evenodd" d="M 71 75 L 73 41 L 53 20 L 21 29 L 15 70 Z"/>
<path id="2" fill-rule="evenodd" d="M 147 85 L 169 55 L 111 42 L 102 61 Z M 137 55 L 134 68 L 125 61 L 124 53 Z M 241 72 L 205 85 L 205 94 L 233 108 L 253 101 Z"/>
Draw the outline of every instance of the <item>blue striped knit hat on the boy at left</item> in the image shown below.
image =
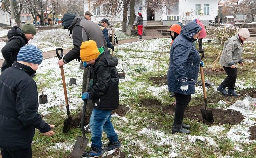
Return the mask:
<path id="1" fill-rule="evenodd" d="M 25 61 L 40 65 L 43 61 L 42 51 L 34 45 L 25 45 L 21 47 L 17 61 Z"/>

